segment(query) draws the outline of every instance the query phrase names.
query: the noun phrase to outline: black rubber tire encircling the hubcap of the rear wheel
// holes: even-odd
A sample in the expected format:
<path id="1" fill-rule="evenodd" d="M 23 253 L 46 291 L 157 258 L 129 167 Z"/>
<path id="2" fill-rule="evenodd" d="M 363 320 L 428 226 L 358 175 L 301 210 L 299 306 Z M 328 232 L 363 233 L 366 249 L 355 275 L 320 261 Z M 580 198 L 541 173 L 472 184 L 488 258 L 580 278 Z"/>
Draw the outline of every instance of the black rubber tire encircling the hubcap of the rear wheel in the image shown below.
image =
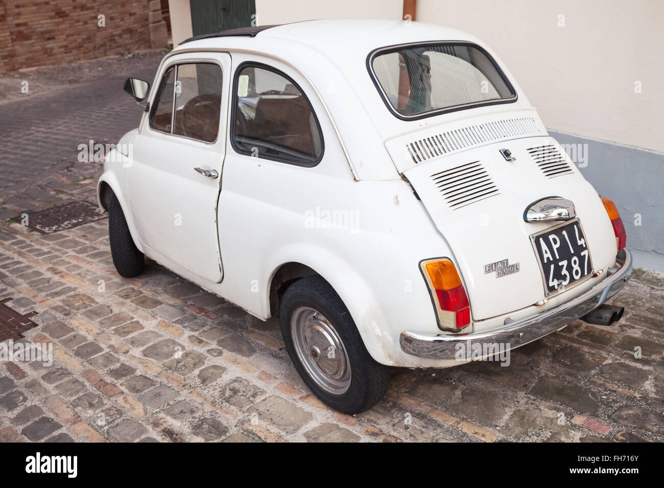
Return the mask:
<path id="1" fill-rule="evenodd" d="M 351 372 L 350 386 L 341 394 L 332 394 L 319 386 L 315 378 L 307 372 L 307 367 L 297 353 L 292 337 L 291 319 L 293 313 L 302 307 L 323 315 L 333 325 L 343 343 L 343 352 L 347 354 Z M 374 406 L 384 395 L 390 382 L 389 366 L 377 363 L 369 355 L 346 305 L 323 278 L 309 276 L 288 287 L 280 305 L 280 321 L 286 350 L 295 369 L 313 394 L 327 406 L 344 414 L 359 414 Z"/>

